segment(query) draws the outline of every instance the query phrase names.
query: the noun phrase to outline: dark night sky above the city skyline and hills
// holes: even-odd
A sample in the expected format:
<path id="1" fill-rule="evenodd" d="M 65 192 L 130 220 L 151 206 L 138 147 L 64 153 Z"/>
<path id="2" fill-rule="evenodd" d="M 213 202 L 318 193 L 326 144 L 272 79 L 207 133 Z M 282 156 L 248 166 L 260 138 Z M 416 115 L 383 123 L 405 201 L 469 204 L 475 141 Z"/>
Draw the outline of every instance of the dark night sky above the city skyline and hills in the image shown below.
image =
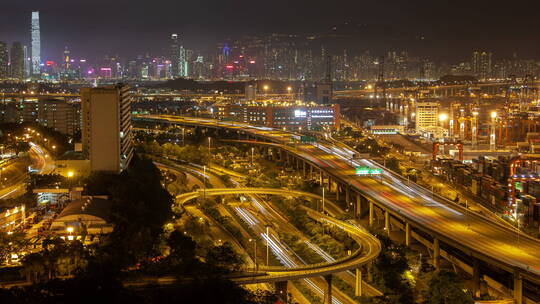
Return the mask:
<path id="1" fill-rule="evenodd" d="M 51 59 L 66 45 L 75 57 L 160 55 L 173 32 L 200 49 L 242 34 L 320 33 L 346 21 L 425 36 L 432 43 L 422 55 L 435 58 L 466 60 L 485 49 L 540 59 L 540 1 L 17 0 L 1 5 L 0 41 L 29 44 L 31 10 L 41 12 Z"/>

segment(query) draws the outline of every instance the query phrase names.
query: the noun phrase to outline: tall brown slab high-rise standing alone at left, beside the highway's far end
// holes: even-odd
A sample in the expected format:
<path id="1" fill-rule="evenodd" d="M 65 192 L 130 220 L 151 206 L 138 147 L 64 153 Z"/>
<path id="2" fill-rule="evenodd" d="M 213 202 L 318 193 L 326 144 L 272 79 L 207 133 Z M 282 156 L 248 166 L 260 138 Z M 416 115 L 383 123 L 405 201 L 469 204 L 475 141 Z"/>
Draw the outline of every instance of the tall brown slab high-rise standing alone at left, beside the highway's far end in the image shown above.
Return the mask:
<path id="1" fill-rule="evenodd" d="M 92 171 L 121 172 L 133 157 L 129 87 L 81 89 L 83 152 Z"/>

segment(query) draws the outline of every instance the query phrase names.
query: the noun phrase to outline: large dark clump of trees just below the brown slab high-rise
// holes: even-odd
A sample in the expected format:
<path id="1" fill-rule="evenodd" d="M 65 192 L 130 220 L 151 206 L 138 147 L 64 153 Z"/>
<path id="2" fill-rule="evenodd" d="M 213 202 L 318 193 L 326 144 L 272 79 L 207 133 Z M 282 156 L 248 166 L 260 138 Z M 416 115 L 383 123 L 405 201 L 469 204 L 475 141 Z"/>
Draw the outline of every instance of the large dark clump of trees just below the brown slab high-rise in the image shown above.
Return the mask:
<path id="1" fill-rule="evenodd" d="M 172 196 L 161 185 L 161 173 L 149 159 L 134 157 L 120 175 L 94 174 L 87 181 L 90 195 L 112 200 L 114 230 L 104 238 L 99 259 L 118 269 L 159 255 L 163 225 L 172 218 Z"/>

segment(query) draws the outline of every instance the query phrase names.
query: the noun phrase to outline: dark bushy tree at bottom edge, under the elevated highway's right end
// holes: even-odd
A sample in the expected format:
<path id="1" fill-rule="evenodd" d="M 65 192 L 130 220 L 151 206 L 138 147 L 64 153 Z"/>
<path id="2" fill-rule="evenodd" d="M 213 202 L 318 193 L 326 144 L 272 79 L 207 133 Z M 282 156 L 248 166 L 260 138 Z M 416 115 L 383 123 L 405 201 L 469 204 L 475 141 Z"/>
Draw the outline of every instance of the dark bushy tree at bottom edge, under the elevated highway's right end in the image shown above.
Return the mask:
<path id="1" fill-rule="evenodd" d="M 441 270 L 433 274 L 427 295 L 426 304 L 472 304 L 472 295 L 464 291 L 463 280 L 455 273 Z"/>

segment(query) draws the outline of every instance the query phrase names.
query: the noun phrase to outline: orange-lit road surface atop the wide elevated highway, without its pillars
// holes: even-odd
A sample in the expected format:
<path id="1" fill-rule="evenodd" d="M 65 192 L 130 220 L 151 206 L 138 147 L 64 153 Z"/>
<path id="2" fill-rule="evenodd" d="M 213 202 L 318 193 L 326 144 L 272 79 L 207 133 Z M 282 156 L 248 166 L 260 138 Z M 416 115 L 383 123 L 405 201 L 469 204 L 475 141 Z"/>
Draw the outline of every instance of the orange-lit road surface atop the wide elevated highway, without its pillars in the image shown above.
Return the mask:
<path id="1" fill-rule="evenodd" d="M 465 253 L 497 265 L 509 272 L 519 271 L 540 282 L 540 242 L 519 235 L 506 226 L 433 195 L 431 191 L 381 168 L 379 177 L 355 175 L 355 166 L 381 167 L 373 161 L 352 160 L 353 151 L 329 144 L 290 146 L 292 133 L 244 123 L 177 116 L 139 116 L 140 119 L 172 124 L 236 130 L 273 142 L 337 179 L 354 191 L 377 202 L 394 216 L 437 237 Z"/>

